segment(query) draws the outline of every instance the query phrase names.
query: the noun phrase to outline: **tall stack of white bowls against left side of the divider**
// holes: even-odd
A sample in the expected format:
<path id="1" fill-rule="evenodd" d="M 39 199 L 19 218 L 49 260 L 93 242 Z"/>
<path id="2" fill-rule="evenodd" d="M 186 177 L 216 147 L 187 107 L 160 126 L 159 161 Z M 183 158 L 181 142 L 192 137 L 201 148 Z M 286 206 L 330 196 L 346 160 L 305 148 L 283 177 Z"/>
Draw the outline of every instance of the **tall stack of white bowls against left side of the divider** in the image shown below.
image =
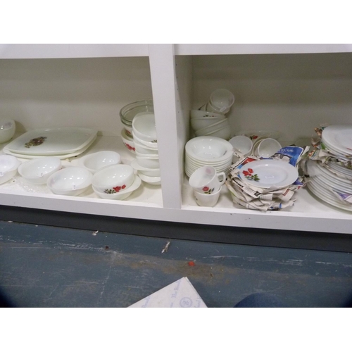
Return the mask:
<path id="1" fill-rule="evenodd" d="M 131 163 L 142 181 L 161 184 L 158 141 L 154 113 L 137 113 L 132 121 L 136 159 Z"/>

